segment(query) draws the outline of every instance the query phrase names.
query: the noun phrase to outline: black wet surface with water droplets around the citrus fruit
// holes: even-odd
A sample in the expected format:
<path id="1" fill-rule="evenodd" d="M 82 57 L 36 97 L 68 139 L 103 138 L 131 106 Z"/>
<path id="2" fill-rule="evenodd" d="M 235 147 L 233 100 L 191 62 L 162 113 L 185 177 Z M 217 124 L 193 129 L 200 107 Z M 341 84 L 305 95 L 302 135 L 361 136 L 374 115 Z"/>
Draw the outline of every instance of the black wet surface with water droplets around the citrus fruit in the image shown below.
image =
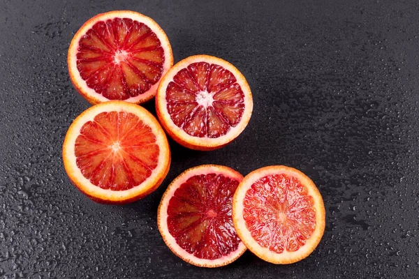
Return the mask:
<path id="1" fill-rule="evenodd" d="M 417 278 L 418 1 L 0 1 L 0 276 L 3 278 Z M 89 104 L 66 55 L 90 17 L 129 9 L 166 31 L 175 61 L 212 54 L 247 77 L 249 126 L 223 149 L 170 142 L 172 168 L 128 206 L 71 185 L 61 145 Z M 147 105 L 153 110 L 154 104 Z M 297 264 L 246 252 L 199 269 L 156 227 L 161 195 L 187 167 L 247 174 L 297 167 L 320 189 L 323 240 Z"/>

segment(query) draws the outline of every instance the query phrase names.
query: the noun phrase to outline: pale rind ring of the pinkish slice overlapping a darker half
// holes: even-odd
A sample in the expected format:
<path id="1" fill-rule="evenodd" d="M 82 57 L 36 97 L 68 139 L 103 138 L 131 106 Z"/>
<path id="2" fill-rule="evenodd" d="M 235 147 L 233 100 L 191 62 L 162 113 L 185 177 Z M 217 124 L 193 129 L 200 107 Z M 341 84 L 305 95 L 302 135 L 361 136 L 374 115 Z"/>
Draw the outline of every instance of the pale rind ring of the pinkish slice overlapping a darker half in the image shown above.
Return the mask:
<path id="1" fill-rule="evenodd" d="M 253 183 L 255 183 L 258 179 L 272 175 L 272 174 L 288 174 L 291 176 L 295 176 L 297 179 L 300 180 L 302 185 L 306 186 L 307 193 L 313 197 L 314 204 L 316 204 L 316 208 L 320 210 L 316 210 L 316 229 L 314 230 L 313 234 L 307 239 L 304 246 L 300 247 L 295 252 L 289 252 L 284 250 L 284 252 L 277 253 L 272 252 L 269 248 L 265 248 L 260 246 L 260 244 L 253 239 L 249 229 L 247 229 L 246 222 L 243 218 L 243 199 L 247 193 L 247 190 L 251 188 Z M 325 220 L 324 216 L 324 206 L 323 206 L 323 199 L 321 195 L 318 193 L 316 186 L 314 183 L 300 172 L 294 172 L 293 169 L 289 167 L 282 167 L 282 166 L 270 166 L 270 167 L 263 167 L 262 169 L 258 169 L 254 172 L 251 172 L 247 176 L 244 177 L 242 182 L 240 183 L 239 187 L 235 192 L 233 197 L 233 221 L 235 223 L 235 228 L 237 230 L 237 234 L 239 234 L 240 239 L 246 244 L 247 248 L 251 250 L 254 254 L 258 257 L 265 259 L 267 262 L 272 262 L 274 264 L 290 264 L 292 262 L 297 262 L 304 257 L 307 257 L 318 245 L 318 242 L 323 236 L 323 231 L 325 227 Z M 285 216 L 279 216 L 280 218 L 284 218 Z M 286 218 L 286 217 L 285 217 Z M 290 259 L 292 259 L 290 261 Z"/>

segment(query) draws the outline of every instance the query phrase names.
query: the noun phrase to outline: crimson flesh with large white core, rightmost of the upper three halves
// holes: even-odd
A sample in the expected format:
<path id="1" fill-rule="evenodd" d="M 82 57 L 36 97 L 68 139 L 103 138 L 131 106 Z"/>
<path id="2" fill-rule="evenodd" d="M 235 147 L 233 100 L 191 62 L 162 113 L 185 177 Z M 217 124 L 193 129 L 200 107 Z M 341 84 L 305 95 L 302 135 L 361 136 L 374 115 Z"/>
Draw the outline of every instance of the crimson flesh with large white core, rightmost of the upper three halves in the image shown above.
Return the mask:
<path id="1" fill-rule="evenodd" d="M 175 125 L 194 137 L 226 135 L 244 112 L 244 93 L 233 73 L 206 62 L 179 70 L 166 100 Z"/>

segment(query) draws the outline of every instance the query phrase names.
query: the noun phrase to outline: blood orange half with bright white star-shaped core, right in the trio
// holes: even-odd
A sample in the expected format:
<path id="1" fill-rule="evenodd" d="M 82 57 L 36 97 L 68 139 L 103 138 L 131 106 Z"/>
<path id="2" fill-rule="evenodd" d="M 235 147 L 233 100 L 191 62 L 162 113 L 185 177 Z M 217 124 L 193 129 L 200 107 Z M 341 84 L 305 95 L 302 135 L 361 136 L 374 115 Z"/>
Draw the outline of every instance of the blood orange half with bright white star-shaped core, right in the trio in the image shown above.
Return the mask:
<path id="1" fill-rule="evenodd" d="M 163 76 L 157 116 L 176 142 L 213 150 L 246 128 L 253 110 L 249 84 L 235 66 L 208 55 L 190 56 Z"/>

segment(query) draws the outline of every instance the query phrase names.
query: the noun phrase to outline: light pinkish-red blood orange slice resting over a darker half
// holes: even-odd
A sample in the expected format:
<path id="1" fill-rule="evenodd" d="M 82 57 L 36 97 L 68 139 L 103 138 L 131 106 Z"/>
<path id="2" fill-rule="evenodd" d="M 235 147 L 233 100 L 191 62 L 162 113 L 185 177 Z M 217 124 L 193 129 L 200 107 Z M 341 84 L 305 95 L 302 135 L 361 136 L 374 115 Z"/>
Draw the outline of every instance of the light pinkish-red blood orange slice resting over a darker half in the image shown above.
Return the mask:
<path id="1" fill-rule="evenodd" d="M 291 264 L 313 252 L 325 229 L 323 199 L 305 174 L 285 166 L 257 169 L 233 197 L 240 239 L 261 259 Z"/>

